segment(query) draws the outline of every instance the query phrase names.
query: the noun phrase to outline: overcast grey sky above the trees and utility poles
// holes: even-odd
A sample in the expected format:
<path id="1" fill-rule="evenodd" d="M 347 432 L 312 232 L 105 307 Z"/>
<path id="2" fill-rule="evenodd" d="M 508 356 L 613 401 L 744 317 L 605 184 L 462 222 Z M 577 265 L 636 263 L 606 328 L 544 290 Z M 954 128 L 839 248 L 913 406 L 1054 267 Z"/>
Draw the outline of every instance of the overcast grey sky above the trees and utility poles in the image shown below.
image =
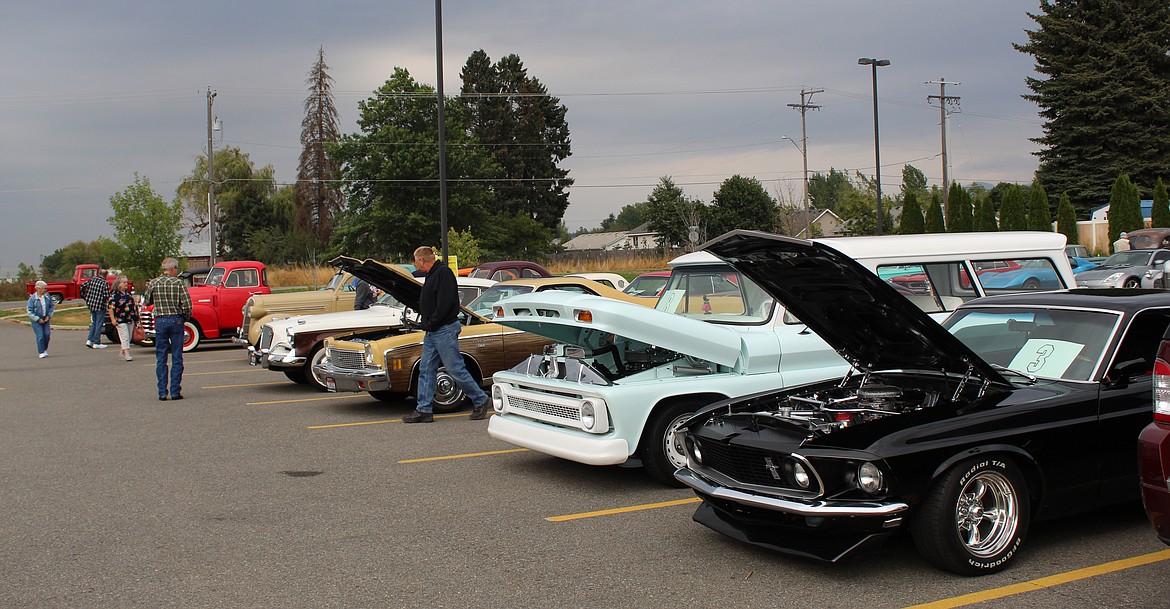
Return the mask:
<path id="1" fill-rule="evenodd" d="M 517 54 L 567 108 L 576 184 L 565 224 L 596 228 L 644 201 L 662 177 L 709 202 L 732 177 L 803 201 L 801 89 L 810 174 L 874 172 L 872 68 L 878 69 L 882 191 L 902 167 L 1027 184 L 1042 122 L 1021 96 L 1038 1 L 985 0 L 445 0 L 443 86 L 467 57 Z M 207 147 L 207 89 L 236 146 L 292 182 L 309 69 L 318 48 L 343 133 L 358 103 L 406 68 L 436 83 L 435 2 L 208 0 L 15 2 L 0 22 L 0 277 L 77 240 L 112 237 L 110 196 L 135 174 L 174 198 Z M 790 139 L 786 139 L 790 138 Z M 435 210 L 438 215 L 438 210 Z M 453 227 L 459 219 L 450 219 Z M 474 233 L 474 227 L 473 227 Z M 431 236 L 420 236 L 424 242 Z"/>

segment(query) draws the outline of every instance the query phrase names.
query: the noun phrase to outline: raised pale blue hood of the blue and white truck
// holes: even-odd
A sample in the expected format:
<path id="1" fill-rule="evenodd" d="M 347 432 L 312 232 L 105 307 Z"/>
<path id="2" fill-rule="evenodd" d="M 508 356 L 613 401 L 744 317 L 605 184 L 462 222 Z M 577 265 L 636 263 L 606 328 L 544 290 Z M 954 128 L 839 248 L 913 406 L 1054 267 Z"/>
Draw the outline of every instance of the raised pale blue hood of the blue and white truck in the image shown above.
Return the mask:
<path id="1" fill-rule="evenodd" d="M 739 333 L 730 327 L 601 296 L 546 290 L 516 295 L 496 306 L 504 313 L 493 321 L 566 345 L 584 346 L 583 331 L 591 331 L 728 367 L 735 366 L 742 353 Z M 579 311 L 589 311 L 592 320 L 578 320 Z"/>

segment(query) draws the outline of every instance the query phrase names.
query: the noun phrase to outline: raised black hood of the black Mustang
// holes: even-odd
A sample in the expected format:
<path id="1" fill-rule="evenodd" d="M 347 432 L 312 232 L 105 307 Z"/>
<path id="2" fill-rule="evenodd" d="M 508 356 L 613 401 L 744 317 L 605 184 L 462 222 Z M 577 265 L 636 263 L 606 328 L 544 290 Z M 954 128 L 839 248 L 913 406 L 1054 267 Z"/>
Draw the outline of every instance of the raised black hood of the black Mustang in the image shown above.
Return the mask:
<path id="1" fill-rule="evenodd" d="M 832 247 L 732 230 L 702 247 L 750 277 L 858 368 L 1007 381 L 875 274 Z"/>

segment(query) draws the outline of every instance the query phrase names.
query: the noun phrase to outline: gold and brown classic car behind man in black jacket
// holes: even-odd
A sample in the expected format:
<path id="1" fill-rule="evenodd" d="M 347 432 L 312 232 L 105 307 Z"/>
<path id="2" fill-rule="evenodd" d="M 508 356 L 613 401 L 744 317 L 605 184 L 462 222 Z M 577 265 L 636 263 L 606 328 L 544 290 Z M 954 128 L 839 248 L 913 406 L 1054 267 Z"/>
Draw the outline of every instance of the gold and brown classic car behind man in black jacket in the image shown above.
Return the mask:
<path id="1" fill-rule="evenodd" d="M 347 258 L 345 270 L 371 283 L 386 276 L 387 269 L 373 261 L 359 263 Z M 612 288 L 579 277 L 530 278 L 493 285 L 470 305 L 462 307 L 463 328 L 459 334 L 460 351 L 467 369 L 479 382 L 490 381 L 497 371 L 515 366 L 532 353 L 539 353 L 549 340 L 535 334 L 490 323 L 475 313 L 482 302 L 496 303 L 502 293 L 567 290 L 607 298 L 634 300 Z M 399 298 L 408 309 L 418 310 L 418 296 Z M 489 305 L 490 306 L 490 305 Z M 394 330 L 358 332 L 325 340 L 325 361 L 314 366 L 314 374 L 325 380 L 331 392 L 369 392 L 379 400 L 400 400 L 418 390 L 419 360 L 422 357 L 422 333 L 414 326 Z M 449 413 L 464 402 L 463 390 L 439 369 L 434 410 Z"/>

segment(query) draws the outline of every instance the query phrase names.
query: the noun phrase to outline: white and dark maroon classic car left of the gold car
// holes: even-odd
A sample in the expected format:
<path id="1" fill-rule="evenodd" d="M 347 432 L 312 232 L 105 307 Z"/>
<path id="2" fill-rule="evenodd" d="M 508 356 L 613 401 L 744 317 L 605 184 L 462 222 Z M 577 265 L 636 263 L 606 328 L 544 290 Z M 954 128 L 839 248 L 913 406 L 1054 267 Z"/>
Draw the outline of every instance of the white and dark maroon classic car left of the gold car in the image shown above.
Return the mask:
<path id="1" fill-rule="evenodd" d="M 418 299 L 415 285 L 419 282 L 415 277 L 400 267 L 384 267 L 395 281 L 386 282 L 381 277 L 372 277 L 371 285 L 384 293 L 370 309 L 284 319 L 273 318 L 261 327 L 259 347 L 248 347 L 249 362 L 274 372 L 283 372 L 294 382 L 325 390 L 325 380 L 315 374 L 312 367 L 325 359 L 326 338 L 376 328 L 401 327 L 406 305 L 399 297 L 408 300 Z M 472 277 L 459 277 L 457 281 L 459 299 L 463 304 L 470 303 L 495 283 Z M 407 295 L 402 295 L 399 283 L 408 286 Z"/>

